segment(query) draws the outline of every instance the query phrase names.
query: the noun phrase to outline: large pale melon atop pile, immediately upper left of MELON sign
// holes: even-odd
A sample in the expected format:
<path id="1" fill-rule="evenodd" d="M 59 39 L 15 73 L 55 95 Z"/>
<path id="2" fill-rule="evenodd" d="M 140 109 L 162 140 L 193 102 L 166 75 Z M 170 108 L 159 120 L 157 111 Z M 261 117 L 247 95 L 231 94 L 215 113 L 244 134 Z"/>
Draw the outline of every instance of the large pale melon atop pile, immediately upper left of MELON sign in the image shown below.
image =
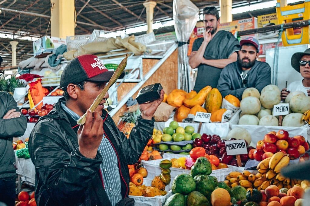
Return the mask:
<path id="1" fill-rule="evenodd" d="M 281 92 L 279 89 L 265 90 L 261 93 L 259 100 L 263 107 L 266 109 L 272 109 L 274 105 L 280 103 Z"/>

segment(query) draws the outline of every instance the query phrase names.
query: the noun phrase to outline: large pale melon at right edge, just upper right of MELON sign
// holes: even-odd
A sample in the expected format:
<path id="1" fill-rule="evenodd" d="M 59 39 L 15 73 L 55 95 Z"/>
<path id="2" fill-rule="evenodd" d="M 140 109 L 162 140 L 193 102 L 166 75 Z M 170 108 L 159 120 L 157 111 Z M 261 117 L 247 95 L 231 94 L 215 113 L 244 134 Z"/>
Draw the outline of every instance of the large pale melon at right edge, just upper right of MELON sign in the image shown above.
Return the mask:
<path id="1" fill-rule="evenodd" d="M 294 112 L 305 113 L 310 109 L 310 97 L 306 95 L 294 95 L 290 99 L 290 108 Z"/>

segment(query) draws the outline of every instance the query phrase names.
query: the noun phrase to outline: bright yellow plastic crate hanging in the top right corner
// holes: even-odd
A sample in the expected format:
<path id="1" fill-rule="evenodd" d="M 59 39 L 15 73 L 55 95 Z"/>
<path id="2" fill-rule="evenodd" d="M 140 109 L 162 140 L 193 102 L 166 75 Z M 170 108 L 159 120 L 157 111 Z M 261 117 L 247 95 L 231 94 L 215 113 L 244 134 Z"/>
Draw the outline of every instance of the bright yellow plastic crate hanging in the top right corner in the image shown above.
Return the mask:
<path id="1" fill-rule="evenodd" d="M 307 20 L 310 19 L 310 0 L 305 0 L 302 4 L 284 7 L 281 7 L 280 0 L 277 0 L 276 11 L 279 24 Z M 292 46 L 309 44 L 309 35 L 309 26 L 305 26 L 301 28 L 299 34 L 294 34 L 294 28 L 285 29 L 281 38 L 284 46 Z"/>

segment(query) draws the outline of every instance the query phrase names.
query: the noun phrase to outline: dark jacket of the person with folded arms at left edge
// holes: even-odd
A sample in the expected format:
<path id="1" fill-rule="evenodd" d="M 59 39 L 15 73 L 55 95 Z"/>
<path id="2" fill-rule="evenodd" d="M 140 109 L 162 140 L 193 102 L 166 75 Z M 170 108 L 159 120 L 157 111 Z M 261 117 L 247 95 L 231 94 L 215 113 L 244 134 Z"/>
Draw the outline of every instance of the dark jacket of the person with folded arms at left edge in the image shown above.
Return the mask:
<path id="1" fill-rule="evenodd" d="M 12 140 L 13 137 L 24 135 L 27 128 L 27 118 L 24 115 L 18 118 L 3 119 L 3 116 L 11 109 L 20 111 L 12 95 L 0 92 L 0 179 L 16 176 Z"/>

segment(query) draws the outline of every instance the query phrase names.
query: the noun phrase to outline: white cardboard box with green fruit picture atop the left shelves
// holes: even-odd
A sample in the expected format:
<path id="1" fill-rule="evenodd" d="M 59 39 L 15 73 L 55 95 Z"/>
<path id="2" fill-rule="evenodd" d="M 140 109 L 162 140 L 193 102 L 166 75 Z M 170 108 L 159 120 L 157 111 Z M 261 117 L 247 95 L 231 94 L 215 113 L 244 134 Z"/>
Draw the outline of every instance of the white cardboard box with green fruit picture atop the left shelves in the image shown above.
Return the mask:
<path id="1" fill-rule="evenodd" d="M 46 57 L 50 53 L 55 53 L 56 49 L 66 44 L 66 39 L 53 36 L 42 36 L 40 39 L 33 41 L 33 56 Z"/>

